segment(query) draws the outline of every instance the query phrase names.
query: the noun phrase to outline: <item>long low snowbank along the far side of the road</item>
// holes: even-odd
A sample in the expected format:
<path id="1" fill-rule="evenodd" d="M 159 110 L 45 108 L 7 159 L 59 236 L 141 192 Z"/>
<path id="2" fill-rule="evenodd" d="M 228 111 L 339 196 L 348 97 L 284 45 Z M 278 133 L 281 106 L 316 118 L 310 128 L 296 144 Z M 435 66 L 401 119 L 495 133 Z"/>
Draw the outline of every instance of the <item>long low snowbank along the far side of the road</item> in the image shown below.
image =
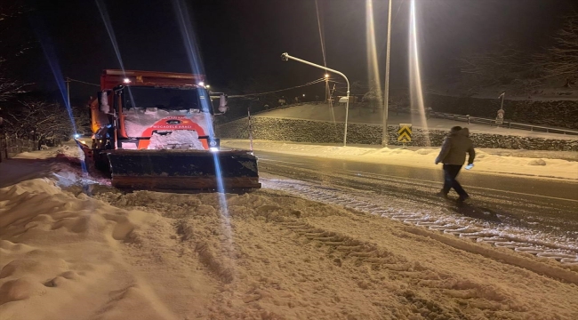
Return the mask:
<path id="1" fill-rule="evenodd" d="M 248 148 L 247 140 L 221 140 L 222 147 Z M 253 148 L 300 156 L 324 156 L 374 164 L 405 165 L 439 169 L 434 164 L 440 148 L 334 147 L 283 141 L 254 140 Z M 486 152 L 487 151 L 487 152 Z M 534 159 L 521 156 L 496 156 L 492 150 L 476 149 L 474 172 L 518 174 L 578 180 L 578 161 L 561 159 Z M 570 154 L 575 154 L 568 152 Z M 465 159 L 465 156 L 464 156 Z M 576 159 L 578 160 L 578 159 Z M 466 172 L 464 172 L 466 173 Z M 463 173 L 462 173 L 463 174 Z M 467 173 L 466 173 L 467 174 Z"/>

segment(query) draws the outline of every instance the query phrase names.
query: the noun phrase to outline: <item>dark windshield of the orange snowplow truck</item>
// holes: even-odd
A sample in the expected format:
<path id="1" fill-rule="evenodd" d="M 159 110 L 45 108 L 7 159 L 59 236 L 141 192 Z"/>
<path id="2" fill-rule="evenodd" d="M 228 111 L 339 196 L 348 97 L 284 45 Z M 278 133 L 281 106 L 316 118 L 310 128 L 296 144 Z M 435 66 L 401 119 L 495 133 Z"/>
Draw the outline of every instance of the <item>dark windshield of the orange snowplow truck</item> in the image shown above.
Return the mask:
<path id="1" fill-rule="evenodd" d="M 213 113 L 211 100 L 205 89 L 179 89 L 155 87 L 127 87 L 124 108 L 159 108 L 165 110 L 198 109 Z M 206 101 L 206 103 L 202 103 Z"/>

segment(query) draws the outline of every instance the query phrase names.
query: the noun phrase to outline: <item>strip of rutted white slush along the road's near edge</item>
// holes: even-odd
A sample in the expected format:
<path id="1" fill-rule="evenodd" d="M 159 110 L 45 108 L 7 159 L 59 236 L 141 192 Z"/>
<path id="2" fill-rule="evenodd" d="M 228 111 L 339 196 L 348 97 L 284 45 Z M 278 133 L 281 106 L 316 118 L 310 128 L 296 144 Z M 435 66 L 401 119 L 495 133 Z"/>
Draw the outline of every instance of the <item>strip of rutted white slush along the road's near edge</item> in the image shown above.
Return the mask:
<path id="1" fill-rule="evenodd" d="M 576 241 L 578 232 L 574 228 L 571 232 L 565 233 L 565 236 L 552 236 L 532 228 L 512 227 L 504 223 L 506 217 L 476 204 L 448 202 L 448 205 L 437 210 L 428 204 L 403 201 L 368 190 L 327 187 L 275 176 L 263 179 L 262 183 L 265 188 L 283 190 L 313 201 L 342 205 L 358 212 L 403 221 L 432 231 L 472 239 L 478 243 L 492 244 L 516 252 L 535 254 L 545 259 L 555 259 L 564 264 L 578 265 Z"/>

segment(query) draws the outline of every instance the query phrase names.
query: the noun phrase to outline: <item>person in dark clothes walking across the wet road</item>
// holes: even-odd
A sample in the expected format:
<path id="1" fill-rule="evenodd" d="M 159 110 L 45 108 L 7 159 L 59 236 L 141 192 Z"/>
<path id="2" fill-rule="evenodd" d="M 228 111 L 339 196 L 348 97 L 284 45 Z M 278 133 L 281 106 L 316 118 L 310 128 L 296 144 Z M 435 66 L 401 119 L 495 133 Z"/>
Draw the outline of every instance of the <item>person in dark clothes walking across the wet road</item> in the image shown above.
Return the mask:
<path id="1" fill-rule="evenodd" d="M 458 198 L 459 202 L 464 202 L 468 200 L 470 196 L 462 188 L 460 182 L 456 180 L 456 177 L 462 170 L 462 165 L 466 158 L 466 153 L 468 153 L 468 164 L 473 165 L 474 158 L 476 157 L 476 151 L 474 150 L 474 144 L 470 140 L 470 130 L 468 128 L 462 128 L 461 126 L 454 126 L 450 131 L 449 136 L 447 136 L 442 149 L 439 152 L 439 156 L 436 158 L 436 164 L 444 164 L 444 188 L 438 193 L 439 196 L 444 196 L 447 198 L 447 194 L 450 192 L 451 188 L 454 188 L 455 192 L 460 195 Z M 467 168 L 469 169 L 469 168 Z"/>

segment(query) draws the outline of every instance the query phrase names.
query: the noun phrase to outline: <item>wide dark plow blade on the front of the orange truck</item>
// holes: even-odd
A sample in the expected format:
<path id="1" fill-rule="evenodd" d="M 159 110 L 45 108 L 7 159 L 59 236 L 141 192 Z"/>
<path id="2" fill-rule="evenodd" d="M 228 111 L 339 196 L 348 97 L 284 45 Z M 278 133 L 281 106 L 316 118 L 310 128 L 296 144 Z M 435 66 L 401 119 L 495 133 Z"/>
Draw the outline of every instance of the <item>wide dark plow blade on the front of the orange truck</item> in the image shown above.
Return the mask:
<path id="1" fill-rule="evenodd" d="M 112 185 L 146 190 L 261 188 L 257 158 L 248 151 L 107 151 Z"/>

